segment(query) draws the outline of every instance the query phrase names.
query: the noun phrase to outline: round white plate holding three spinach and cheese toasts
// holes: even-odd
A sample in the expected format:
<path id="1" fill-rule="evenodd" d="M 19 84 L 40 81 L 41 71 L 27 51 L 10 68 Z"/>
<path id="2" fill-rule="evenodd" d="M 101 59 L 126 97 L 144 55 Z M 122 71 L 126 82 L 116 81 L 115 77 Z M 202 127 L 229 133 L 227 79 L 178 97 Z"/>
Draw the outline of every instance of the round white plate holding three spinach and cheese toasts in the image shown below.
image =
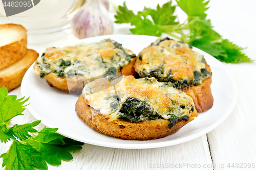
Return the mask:
<path id="1" fill-rule="evenodd" d="M 97 42 L 105 38 L 111 38 L 138 54 L 144 47 L 154 42 L 157 37 L 106 35 L 82 39 L 72 44 L 67 43 L 67 45 L 80 42 Z M 147 141 L 123 140 L 92 130 L 76 115 L 75 103 L 78 98 L 50 87 L 45 79 L 40 79 L 39 76 L 34 74 L 32 66 L 23 78 L 21 92 L 26 98 L 30 97 L 30 104 L 27 109 L 35 118 L 41 120 L 41 123 L 47 127 L 59 128 L 57 132 L 69 138 L 103 147 L 124 149 L 159 148 L 175 145 L 195 139 L 215 129 L 230 115 L 237 102 L 236 83 L 224 65 L 198 48 L 193 47 L 193 50 L 204 55 L 211 67 L 211 91 L 214 96 L 214 106 L 206 112 L 199 113 L 195 120 L 181 128 L 179 132 L 161 139 Z"/>

